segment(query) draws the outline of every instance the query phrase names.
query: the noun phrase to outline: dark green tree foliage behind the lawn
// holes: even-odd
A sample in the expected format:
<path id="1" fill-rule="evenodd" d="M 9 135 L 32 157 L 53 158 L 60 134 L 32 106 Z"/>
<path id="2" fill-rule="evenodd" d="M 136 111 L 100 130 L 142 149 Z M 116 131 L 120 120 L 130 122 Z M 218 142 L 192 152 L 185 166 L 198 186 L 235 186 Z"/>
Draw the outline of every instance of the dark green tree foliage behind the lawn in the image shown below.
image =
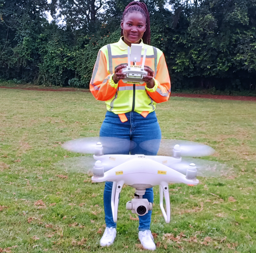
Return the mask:
<path id="1" fill-rule="evenodd" d="M 0 78 L 88 87 L 99 48 L 119 39 L 129 2 L 0 0 Z M 255 0 L 144 2 L 174 89 L 256 90 Z"/>

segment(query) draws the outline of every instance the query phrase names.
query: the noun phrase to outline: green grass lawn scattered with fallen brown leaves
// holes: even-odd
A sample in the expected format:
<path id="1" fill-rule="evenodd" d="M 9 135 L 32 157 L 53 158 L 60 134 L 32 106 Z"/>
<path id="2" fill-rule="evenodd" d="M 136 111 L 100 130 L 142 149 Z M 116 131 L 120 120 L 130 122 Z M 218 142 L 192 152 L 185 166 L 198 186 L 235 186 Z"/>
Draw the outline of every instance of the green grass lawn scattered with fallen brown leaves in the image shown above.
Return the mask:
<path id="1" fill-rule="evenodd" d="M 216 152 L 204 159 L 234 174 L 170 185 L 165 224 L 154 188 L 156 252 L 256 252 L 256 103 L 174 97 L 159 104 L 163 138 L 197 141 Z M 122 190 L 117 239 L 104 231 L 104 184 L 56 164 L 80 154 L 65 141 L 98 136 L 106 108 L 90 93 L 0 89 L 0 252 L 139 252 L 138 220 Z"/>

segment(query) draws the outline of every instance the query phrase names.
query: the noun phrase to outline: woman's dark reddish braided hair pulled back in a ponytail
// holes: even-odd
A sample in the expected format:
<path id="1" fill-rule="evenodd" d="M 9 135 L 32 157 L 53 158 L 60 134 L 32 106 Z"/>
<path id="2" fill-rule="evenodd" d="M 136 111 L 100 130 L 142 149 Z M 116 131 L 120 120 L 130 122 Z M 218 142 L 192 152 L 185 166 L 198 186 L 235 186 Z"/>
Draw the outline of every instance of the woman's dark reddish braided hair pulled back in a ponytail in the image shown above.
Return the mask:
<path id="1" fill-rule="evenodd" d="M 147 6 L 145 5 L 145 3 L 140 3 L 140 2 L 135 2 L 135 1 L 130 2 L 128 4 L 128 6 L 124 9 L 123 18 L 122 18 L 123 21 L 124 21 L 124 17 L 126 17 L 126 15 L 131 12 L 140 12 L 145 17 L 146 31 L 144 32 L 142 39 L 145 44 L 150 45 L 150 19 L 149 19 L 149 13 L 148 13 Z M 121 31 L 121 36 L 123 36 L 123 29 Z"/>

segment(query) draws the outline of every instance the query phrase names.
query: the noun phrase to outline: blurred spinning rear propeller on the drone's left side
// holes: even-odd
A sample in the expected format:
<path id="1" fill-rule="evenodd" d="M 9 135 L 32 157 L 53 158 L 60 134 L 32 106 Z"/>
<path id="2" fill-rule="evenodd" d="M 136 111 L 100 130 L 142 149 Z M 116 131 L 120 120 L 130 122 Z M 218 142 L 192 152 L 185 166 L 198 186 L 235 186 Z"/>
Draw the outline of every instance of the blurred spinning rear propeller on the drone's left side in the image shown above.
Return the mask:
<path id="1" fill-rule="evenodd" d="M 62 145 L 62 148 L 76 153 L 94 154 L 98 142 L 102 143 L 104 154 L 122 154 L 130 149 L 134 149 L 136 146 L 134 141 L 128 139 L 86 137 L 67 141 Z"/>

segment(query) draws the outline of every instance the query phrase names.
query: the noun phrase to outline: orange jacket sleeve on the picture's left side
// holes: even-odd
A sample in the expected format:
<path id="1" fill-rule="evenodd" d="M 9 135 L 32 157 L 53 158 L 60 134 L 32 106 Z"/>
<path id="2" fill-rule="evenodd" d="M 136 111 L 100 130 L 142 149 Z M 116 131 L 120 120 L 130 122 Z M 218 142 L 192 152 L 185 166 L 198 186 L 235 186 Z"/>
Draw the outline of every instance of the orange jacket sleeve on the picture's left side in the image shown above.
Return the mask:
<path id="1" fill-rule="evenodd" d="M 112 74 L 108 72 L 106 55 L 99 50 L 93 68 L 90 90 L 97 100 L 107 101 L 117 92 L 118 84 L 114 83 Z"/>

